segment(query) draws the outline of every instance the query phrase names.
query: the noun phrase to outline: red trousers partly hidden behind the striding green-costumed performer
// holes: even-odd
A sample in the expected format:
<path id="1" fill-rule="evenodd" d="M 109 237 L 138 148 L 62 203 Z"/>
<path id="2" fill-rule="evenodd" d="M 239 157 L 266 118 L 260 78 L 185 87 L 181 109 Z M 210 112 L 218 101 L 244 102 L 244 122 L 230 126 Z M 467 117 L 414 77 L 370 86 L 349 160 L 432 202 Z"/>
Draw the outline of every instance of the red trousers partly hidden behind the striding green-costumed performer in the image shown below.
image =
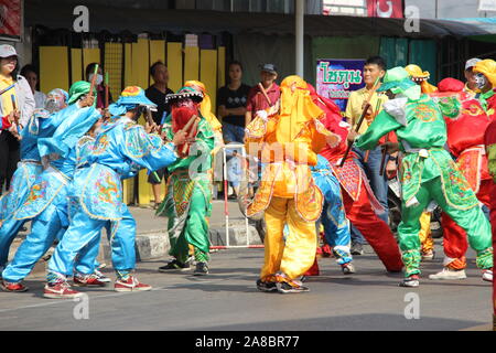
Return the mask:
<path id="1" fill-rule="evenodd" d="M 487 207 L 490 207 L 490 192 L 493 181 L 483 180 L 477 192 L 477 199 Z M 493 197 L 494 200 L 494 197 Z M 496 217 L 496 216 L 495 216 Z M 466 267 L 465 253 L 468 248 L 468 240 L 465 231 L 462 229 L 448 214 L 442 213 L 441 225 L 443 227 L 443 247 L 446 259 L 444 266 L 452 269 L 464 269 Z M 494 223 L 492 222 L 494 229 Z M 493 231 L 494 233 L 494 231 Z"/>

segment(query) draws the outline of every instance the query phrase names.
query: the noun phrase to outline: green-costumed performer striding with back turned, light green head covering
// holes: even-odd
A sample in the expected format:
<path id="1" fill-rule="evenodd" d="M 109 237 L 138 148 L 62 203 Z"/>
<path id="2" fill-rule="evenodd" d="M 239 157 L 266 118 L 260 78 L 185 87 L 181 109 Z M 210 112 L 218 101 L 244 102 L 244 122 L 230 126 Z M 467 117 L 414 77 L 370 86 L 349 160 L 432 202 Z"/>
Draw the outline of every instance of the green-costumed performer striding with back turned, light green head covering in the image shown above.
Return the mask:
<path id="1" fill-rule="evenodd" d="M 401 161 L 402 221 L 398 226 L 399 245 L 405 264 L 405 287 L 419 286 L 420 275 L 420 215 L 431 202 L 438 203 L 463 229 L 477 253 L 477 267 L 493 267 L 490 225 L 484 216 L 475 193 L 457 169 L 448 151 L 446 127 L 439 105 L 428 95 L 421 95 L 402 67 L 389 69 L 378 90 L 391 90 L 396 99 L 384 105 L 356 145 L 374 149 L 380 139 L 396 131 Z M 399 95 L 399 97 L 398 97 Z M 446 106 L 446 109 L 453 106 Z"/>

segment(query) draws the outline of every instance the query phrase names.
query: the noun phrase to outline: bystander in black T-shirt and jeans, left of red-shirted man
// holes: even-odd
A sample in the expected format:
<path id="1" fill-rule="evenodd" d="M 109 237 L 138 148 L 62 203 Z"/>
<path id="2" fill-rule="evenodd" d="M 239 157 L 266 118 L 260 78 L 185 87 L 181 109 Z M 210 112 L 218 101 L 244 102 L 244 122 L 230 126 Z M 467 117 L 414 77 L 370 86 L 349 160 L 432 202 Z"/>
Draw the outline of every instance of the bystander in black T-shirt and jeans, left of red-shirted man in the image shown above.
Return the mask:
<path id="1" fill-rule="evenodd" d="M 241 83 L 240 62 L 229 63 L 229 84 L 218 90 L 218 116 L 223 119 L 224 142 L 240 142 L 245 137 L 245 113 L 250 86 Z"/>

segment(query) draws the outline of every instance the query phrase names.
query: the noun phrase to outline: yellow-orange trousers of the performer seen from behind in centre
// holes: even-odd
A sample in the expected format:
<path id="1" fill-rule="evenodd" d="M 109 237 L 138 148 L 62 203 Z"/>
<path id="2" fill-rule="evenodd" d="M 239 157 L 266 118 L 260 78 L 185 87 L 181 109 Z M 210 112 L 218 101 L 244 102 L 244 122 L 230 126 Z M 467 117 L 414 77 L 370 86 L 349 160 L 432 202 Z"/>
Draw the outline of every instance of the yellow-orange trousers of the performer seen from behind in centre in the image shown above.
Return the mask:
<path id="1" fill-rule="evenodd" d="M 304 221 L 296 212 L 294 199 L 272 196 L 265 213 L 267 233 L 265 238 L 265 264 L 260 272 L 263 281 L 274 281 L 276 272 L 289 280 L 302 276 L 315 259 L 315 223 Z M 284 225 L 289 236 L 283 239 Z M 278 276 L 279 278 L 279 276 Z"/>

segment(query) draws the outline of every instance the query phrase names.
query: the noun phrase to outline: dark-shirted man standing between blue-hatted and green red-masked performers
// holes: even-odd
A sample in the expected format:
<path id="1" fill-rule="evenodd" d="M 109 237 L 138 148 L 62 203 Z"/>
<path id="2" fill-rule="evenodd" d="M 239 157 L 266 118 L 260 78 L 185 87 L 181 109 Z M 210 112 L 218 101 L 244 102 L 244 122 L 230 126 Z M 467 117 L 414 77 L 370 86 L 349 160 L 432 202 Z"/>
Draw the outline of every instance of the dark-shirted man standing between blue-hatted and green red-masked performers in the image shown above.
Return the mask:
<path id="1" fill-rule="evenodd" d="M 164 63 L 157 62 L 150 67 L 150 76 L 153 78 L 153 85 L 144 90 L 144 95 L 148 99 L 157 104 L 157 111 L 152 111 L 153 121 L 157 125 L 162 122 L 162 118 L 171 113 L 171 108 L 165 104 L 165 96 L 173 94 L 174 92 L 168 87 L 169 84 L 169 71 Z M 165 174 L 165 168 L 157 171 L 157 176 L 151 173 L 148 178 L 148 182 L 152 184 L 154 196 L 154 208 L 162 202 L 161 186 L 162 180 Z"/>

